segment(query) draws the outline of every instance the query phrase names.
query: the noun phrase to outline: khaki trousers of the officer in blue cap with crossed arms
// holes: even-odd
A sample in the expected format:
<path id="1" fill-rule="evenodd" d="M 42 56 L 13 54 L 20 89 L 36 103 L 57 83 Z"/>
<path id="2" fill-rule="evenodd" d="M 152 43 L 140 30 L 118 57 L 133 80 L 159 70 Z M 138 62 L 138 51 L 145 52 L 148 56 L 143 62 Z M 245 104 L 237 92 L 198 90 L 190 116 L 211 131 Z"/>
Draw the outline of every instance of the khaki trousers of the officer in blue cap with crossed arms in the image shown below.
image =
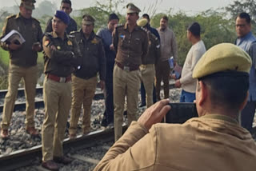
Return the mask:
<path id="1" fill-rule="evenodd" d="M 42 161 L 63 155 L 62 141 L 70 113 L 71 82 L 60 83 L 45 78 L 43 100 L 46 115 L 42 124 Z"/>

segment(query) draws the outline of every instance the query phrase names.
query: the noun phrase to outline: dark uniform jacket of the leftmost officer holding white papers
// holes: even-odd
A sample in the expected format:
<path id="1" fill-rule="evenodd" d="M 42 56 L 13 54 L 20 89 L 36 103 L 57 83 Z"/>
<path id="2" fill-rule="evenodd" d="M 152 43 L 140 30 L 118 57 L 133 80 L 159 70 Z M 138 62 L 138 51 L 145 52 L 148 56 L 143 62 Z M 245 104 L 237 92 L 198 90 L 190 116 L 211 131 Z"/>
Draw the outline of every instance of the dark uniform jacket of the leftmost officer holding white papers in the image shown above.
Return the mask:
<path id="1" fill-rule="evenodd" d="M 26 40 L 18 50 L 9 50 L 9 43 L 1 43 L 4 50 L 10 52 L 10 63 L 15 66 L 30 67 L 37 65 L 38 53 L 32 50 L 35 42 L 42 42 L 42 29 L 40 22 L 35 18 L 26 19 L 21 14 L 11 15 L 6 18 L 2 28 L 1 37 L 6 36 L 11 30 L 17 30 Z"/>

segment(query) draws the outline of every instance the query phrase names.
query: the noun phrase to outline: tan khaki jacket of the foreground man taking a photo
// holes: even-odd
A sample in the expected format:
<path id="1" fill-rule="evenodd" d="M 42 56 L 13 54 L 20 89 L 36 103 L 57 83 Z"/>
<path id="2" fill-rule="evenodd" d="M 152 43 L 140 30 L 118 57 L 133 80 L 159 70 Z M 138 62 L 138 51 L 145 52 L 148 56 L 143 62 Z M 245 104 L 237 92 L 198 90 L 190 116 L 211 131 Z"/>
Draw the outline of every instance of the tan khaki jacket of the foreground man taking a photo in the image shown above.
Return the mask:
<path id="1" fill-rule="evenodd" d="M 147 130 L 134 121 L 94 171 L 252 171 L 256 145 L 231 117 L 207 113 Z"/>

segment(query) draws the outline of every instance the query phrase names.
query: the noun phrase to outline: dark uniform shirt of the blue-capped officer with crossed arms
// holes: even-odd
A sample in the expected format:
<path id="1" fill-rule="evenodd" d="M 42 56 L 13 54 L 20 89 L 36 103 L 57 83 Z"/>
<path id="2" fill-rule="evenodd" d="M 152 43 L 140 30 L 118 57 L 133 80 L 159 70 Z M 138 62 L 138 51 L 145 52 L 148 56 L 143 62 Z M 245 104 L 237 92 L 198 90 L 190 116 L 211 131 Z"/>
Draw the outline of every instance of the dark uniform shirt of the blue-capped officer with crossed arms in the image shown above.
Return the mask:
<path id="1" fill-rule="evenodd" d="M 53 50 L 51 46 L 55 46 Z M 45 59 L 45 74 L 54 74 L 58 77 L 68 77 L 81 65 L 81 52 L 74 38 L 64 40 L 58 38 L 54 32 L 46 33 L 42 39 Z"/>

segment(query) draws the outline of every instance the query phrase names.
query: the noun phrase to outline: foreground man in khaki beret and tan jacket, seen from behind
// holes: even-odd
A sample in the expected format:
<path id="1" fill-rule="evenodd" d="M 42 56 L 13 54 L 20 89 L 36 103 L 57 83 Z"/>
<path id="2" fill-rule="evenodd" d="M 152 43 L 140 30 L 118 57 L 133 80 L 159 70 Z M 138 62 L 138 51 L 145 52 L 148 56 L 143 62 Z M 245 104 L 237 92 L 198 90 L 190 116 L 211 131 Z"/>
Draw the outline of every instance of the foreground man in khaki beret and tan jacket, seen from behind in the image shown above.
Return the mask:
<path id="1" fill-rule="evenodd" d="M 238 46 L 212 47 L 193 71 L 198 117 L 182 125 L 158 123 L 169 110 L 171 114 L 170 101 L 158 101 L 132 122 L 94 171 L 256 168 L 256 144 L 238 123 L 248 96 L 250 66 L 250 56 Z"/>

